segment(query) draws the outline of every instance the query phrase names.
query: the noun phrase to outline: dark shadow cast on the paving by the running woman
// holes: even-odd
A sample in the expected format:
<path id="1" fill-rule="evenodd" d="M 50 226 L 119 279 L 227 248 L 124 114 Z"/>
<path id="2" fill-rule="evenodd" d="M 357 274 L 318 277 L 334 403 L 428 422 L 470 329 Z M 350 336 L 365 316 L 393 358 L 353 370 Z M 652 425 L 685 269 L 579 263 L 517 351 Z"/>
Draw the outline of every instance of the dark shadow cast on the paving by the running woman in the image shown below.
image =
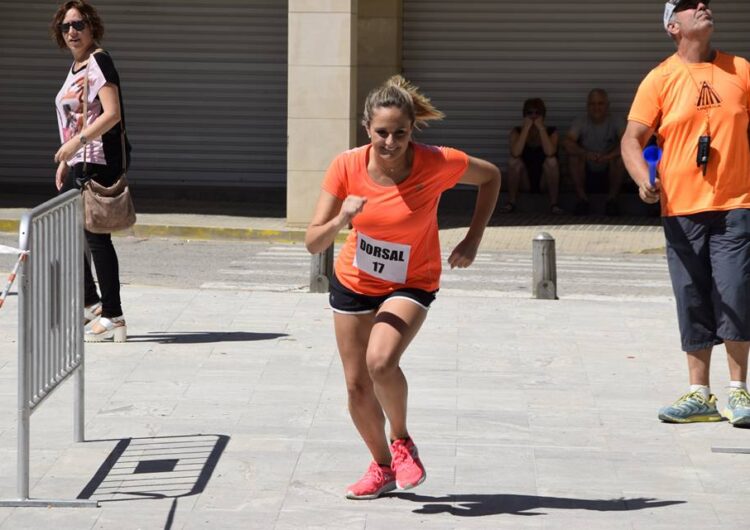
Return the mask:
<path id="1" fill-rule="evenodd" d="M 414 513 L 449 513 L 457 517 L 483 517 L 487 515 L 546 515 L 532 511 L 542 508 L 552 510 L 592 510 L 597 512 L 628 512 L 647 508 L 661 508 L 686 501 L 659 501 L 650 498 L 619 499 L 570 499 L 564 497 L 540 497 L 535 495 L 485 494 L 445 495 L 430 497 L 415 493 L 393 493 L 389 496 L 407 501 L 424 503 Z"/>

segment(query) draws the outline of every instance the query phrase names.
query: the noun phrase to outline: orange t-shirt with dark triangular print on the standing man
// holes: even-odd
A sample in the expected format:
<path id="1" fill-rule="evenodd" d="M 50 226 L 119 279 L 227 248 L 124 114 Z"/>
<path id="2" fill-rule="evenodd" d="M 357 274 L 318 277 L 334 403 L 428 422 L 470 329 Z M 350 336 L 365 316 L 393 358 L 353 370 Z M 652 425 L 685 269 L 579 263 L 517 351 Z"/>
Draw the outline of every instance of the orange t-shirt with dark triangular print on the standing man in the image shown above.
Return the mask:
<path id="1" fill-rule="evenodd" d="M 711 152 L 706 175 L 696 164 L 698 138 Z M 641 82 L 629 120 L 656 128 L 662 215 L 750 207 L 750 63 L 716 53 L 713 63 L 672 55 Z"/>

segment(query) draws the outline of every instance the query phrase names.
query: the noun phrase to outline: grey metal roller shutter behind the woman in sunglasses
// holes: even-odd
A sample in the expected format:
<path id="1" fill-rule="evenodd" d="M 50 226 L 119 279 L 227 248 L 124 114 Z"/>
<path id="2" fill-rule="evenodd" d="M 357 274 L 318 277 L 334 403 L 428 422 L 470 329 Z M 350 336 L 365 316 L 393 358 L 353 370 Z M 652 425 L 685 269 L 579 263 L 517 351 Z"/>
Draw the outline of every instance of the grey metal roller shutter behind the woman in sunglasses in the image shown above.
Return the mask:
<path id="1" fill-rule="evenodd" d="M 120 72 L 129 177 L 140 185 L 286 185 L 287 2 L 98 0 Z M 7 10 L 0 46 L 0 182 L 47 183 L 54 96 L 71 59 L 54 4 Z"/>

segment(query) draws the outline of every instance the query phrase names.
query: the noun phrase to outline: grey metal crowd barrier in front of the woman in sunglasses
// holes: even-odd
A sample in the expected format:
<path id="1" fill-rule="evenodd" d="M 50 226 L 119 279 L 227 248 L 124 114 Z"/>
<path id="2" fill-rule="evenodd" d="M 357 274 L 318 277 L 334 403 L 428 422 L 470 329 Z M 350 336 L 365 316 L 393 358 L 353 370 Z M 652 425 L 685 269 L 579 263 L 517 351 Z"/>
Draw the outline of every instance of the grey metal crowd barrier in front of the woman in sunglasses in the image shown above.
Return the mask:
<path id="1" fill-rule="evenodd" d="M 75 375 L 74 437 L 84 440 L 83 205 L 70 190 L 26 213 L 19 248 L 29 251 L 18 284 L 18 499 L 0 506 L 98 506 L 29 498 L 31 414 Z"/>

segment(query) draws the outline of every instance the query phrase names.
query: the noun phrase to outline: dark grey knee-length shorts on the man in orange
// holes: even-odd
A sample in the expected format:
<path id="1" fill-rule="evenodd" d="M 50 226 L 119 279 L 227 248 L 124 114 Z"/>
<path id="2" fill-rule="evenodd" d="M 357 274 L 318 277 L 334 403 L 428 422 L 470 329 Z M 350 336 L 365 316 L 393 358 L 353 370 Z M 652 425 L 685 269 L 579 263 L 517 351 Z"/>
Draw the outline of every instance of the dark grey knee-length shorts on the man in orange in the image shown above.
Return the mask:
<path id="1" fill-rule="evenodd" d="M 750 341 L 750 210 L 663 217 L 682 349 Z"/>

